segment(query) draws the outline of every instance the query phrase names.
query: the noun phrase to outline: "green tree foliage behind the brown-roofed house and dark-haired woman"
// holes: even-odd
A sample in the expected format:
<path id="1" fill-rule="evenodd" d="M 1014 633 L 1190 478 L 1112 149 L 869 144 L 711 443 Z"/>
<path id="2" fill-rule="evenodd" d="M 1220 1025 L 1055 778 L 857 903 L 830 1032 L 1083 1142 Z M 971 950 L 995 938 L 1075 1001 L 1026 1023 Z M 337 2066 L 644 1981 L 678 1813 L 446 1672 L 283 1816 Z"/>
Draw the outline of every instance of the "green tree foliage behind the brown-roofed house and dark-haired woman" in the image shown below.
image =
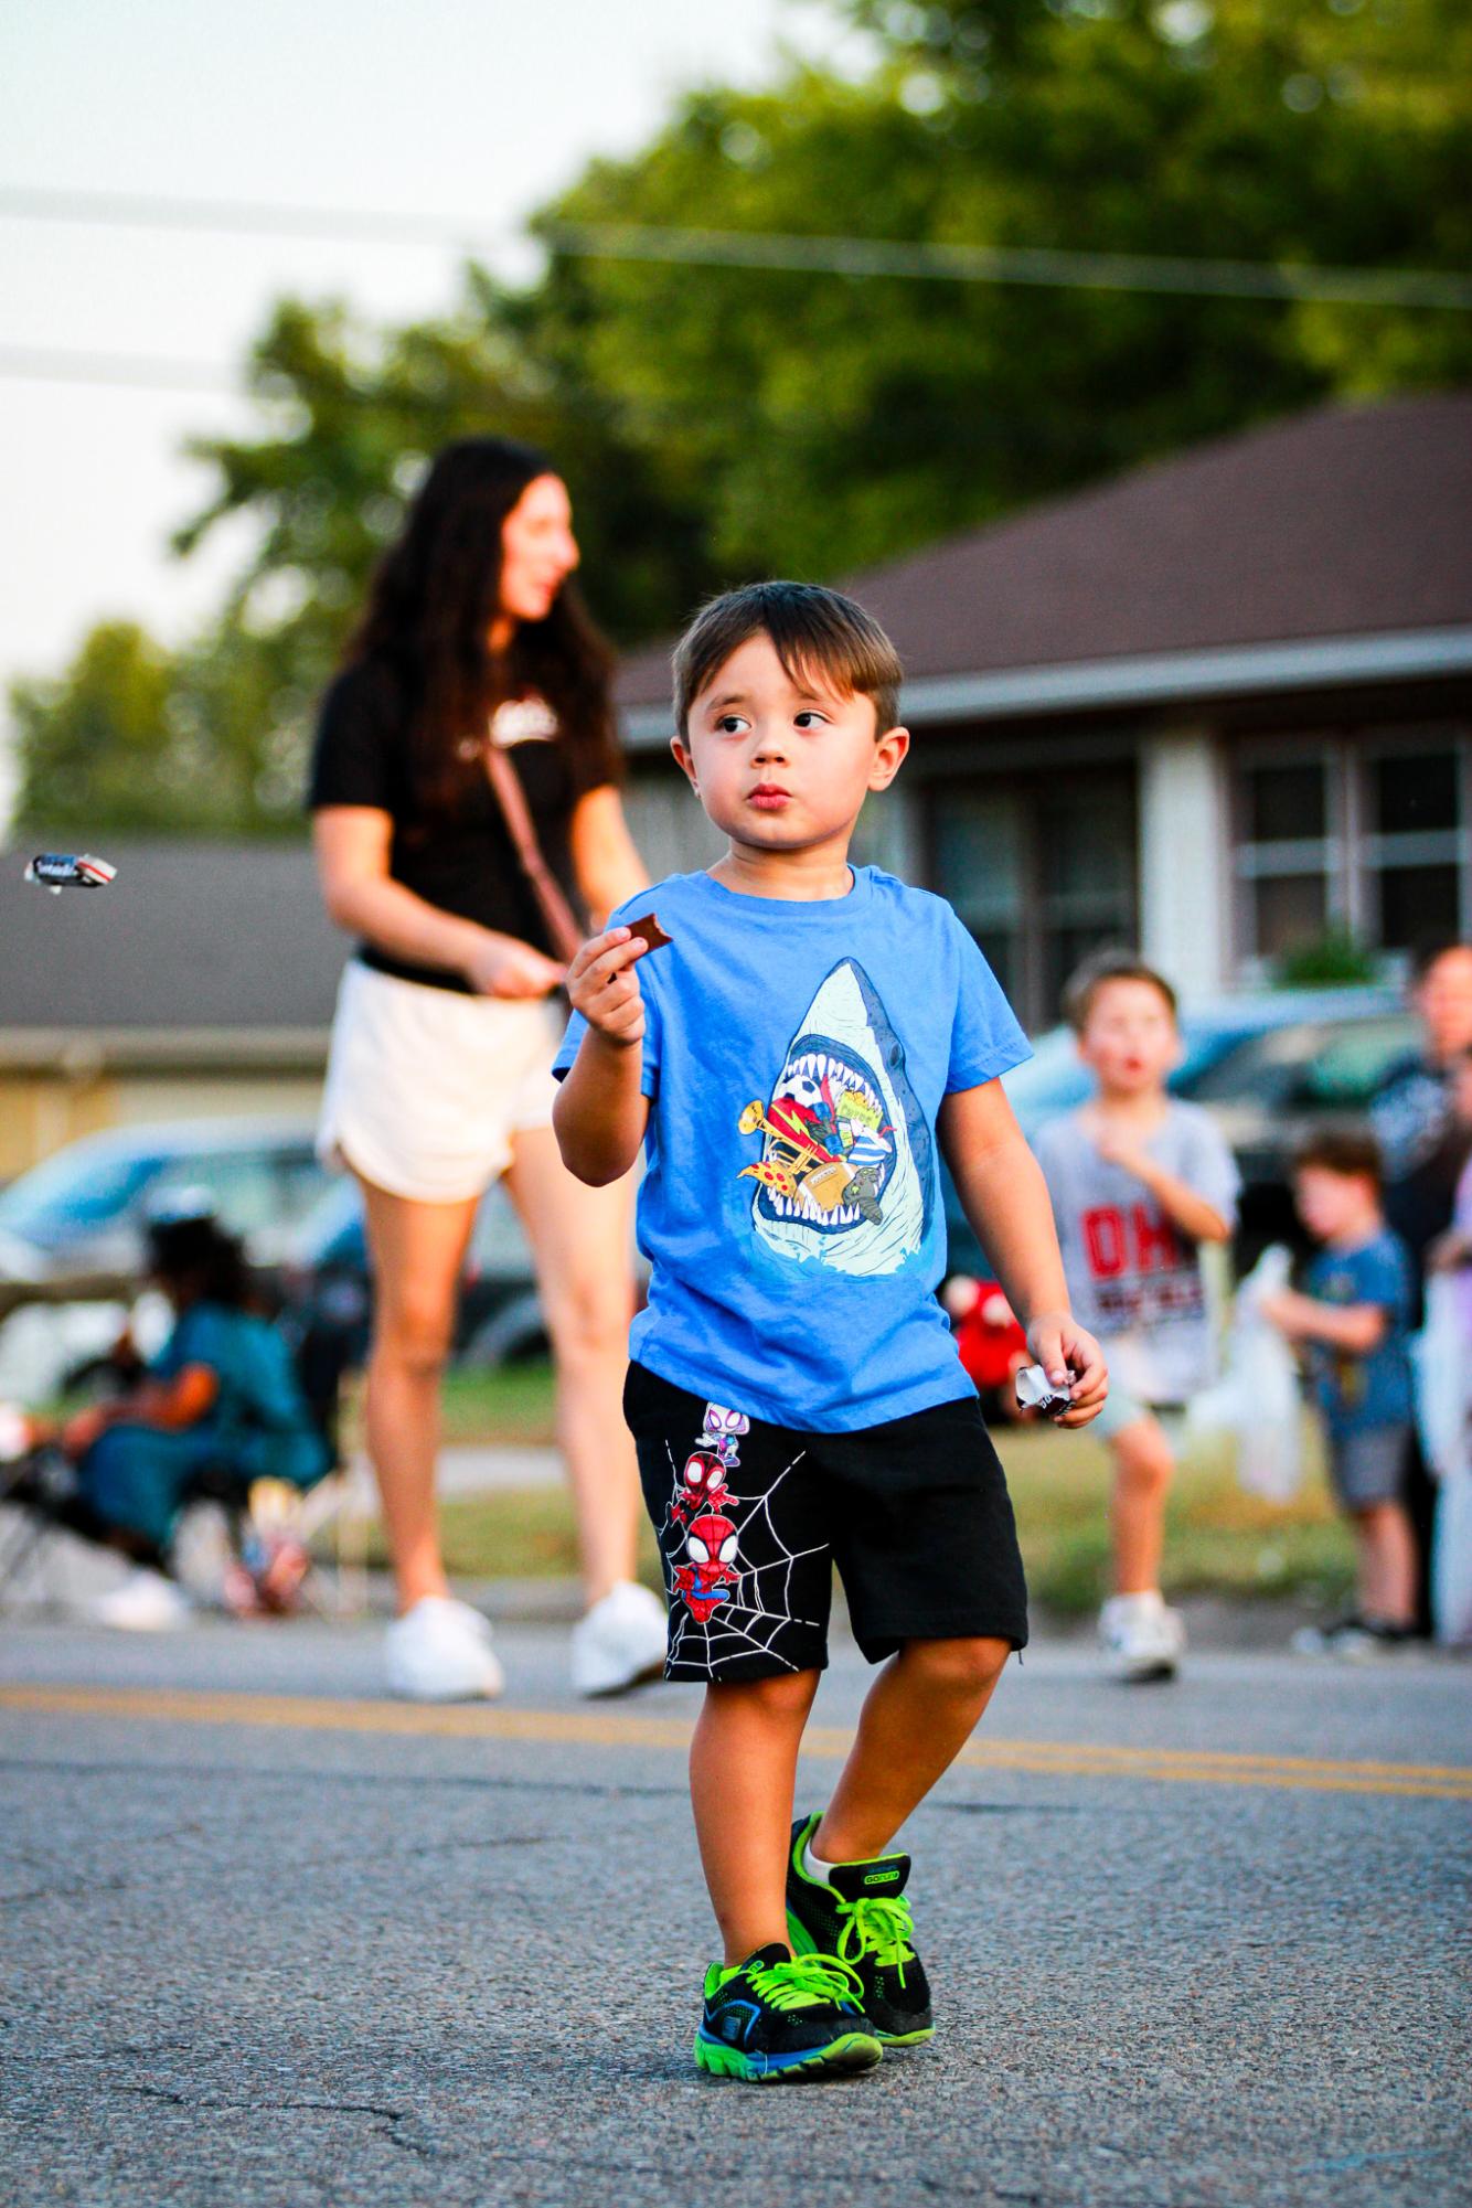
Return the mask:
<path id="1" fill-rule="evenodd" d="M 373 559 L 461 433 L 554 453 L 589 598 L 633 643 L 719 583 L 852 574 L 1267 415 L 1472 375 L 1465 314 L 691 267 L 567 225 L 1465 272 L 1470 172 L 1461 0 L 834 4 L 834 66 L 702 88 L 591 163 L 534 223 L 536 283 L 470 269 L 450 314 L 391 331 L 282 305 L 247 369 L 260 428 L 194 446 L 216 495 L 177 539 L 247 512 L 254 559 L 166 676 L 110 627 L 22 689 L 22 810 L 86 726 L 97 824 L 291 819 Z"/>

